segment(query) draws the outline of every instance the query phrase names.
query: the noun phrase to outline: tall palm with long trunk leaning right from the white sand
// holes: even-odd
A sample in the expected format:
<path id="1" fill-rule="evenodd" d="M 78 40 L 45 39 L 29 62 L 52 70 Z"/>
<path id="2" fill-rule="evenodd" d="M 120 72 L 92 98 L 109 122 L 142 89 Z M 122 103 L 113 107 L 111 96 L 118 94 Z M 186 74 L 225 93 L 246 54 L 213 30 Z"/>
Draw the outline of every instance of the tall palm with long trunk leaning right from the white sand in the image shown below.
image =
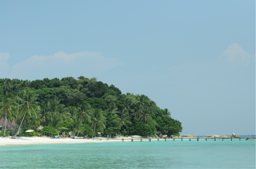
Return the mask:
<path id="1" fill-rule="evenodd" d="M 18 97 L 18 101 L 22 104 L 19 105 L 22 110 L 21 112 L 24 112 L 23 119 L 20 122 L 18 131 L 12 138 L 15 138 L 20 130 L 20 126 L 22 125 L 22 122 L 26 116 L 26 113 L 28 113 L 29 116 L 31 116 L 31 113 L 34 113 L 36 109 L 40 109 L 39 106 L 37 106 L 38 102 L 35 102 L 37 100 L 37 94 L 32 93 L 29 89 L 24 90 L 21 94 L 22 97 Z"/>

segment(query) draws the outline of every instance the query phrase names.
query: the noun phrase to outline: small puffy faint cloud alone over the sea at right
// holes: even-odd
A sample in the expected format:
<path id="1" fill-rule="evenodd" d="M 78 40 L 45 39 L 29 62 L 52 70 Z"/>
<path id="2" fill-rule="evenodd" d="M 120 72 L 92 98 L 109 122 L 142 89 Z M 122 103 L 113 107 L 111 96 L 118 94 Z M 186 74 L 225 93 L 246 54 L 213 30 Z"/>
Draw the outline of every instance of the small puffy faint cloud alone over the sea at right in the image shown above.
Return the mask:
<path id="1" fill-rule="evenodd" d="M 244 51 L 237 43 L 233 43 L 221 53 L 218 60 L 248 66 L 250 57 L 251 55 Z"/>

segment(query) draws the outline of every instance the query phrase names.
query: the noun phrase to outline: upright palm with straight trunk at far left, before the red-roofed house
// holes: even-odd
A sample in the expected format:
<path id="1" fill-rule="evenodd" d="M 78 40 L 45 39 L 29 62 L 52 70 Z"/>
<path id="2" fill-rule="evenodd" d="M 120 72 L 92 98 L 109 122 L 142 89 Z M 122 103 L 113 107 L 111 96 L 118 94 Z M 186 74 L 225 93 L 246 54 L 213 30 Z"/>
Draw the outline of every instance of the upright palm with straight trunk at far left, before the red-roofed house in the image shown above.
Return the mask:
<path id="1" fill-rule="evenodd" d="M 6 120 L 9 119 L 12 120 L 11 114 L 12 114 L 12 107 L 15 105 L 15 97 L 11 94 L 6 92 L 5 94 L 0 95 L 0 115 L 4 116 L 5 121 L 5 128 L 4 128 L 4 134 L 5 137 L 5 131 L 6 131 Z M 7 116 L 8 115 L 8 116 Z"/>

